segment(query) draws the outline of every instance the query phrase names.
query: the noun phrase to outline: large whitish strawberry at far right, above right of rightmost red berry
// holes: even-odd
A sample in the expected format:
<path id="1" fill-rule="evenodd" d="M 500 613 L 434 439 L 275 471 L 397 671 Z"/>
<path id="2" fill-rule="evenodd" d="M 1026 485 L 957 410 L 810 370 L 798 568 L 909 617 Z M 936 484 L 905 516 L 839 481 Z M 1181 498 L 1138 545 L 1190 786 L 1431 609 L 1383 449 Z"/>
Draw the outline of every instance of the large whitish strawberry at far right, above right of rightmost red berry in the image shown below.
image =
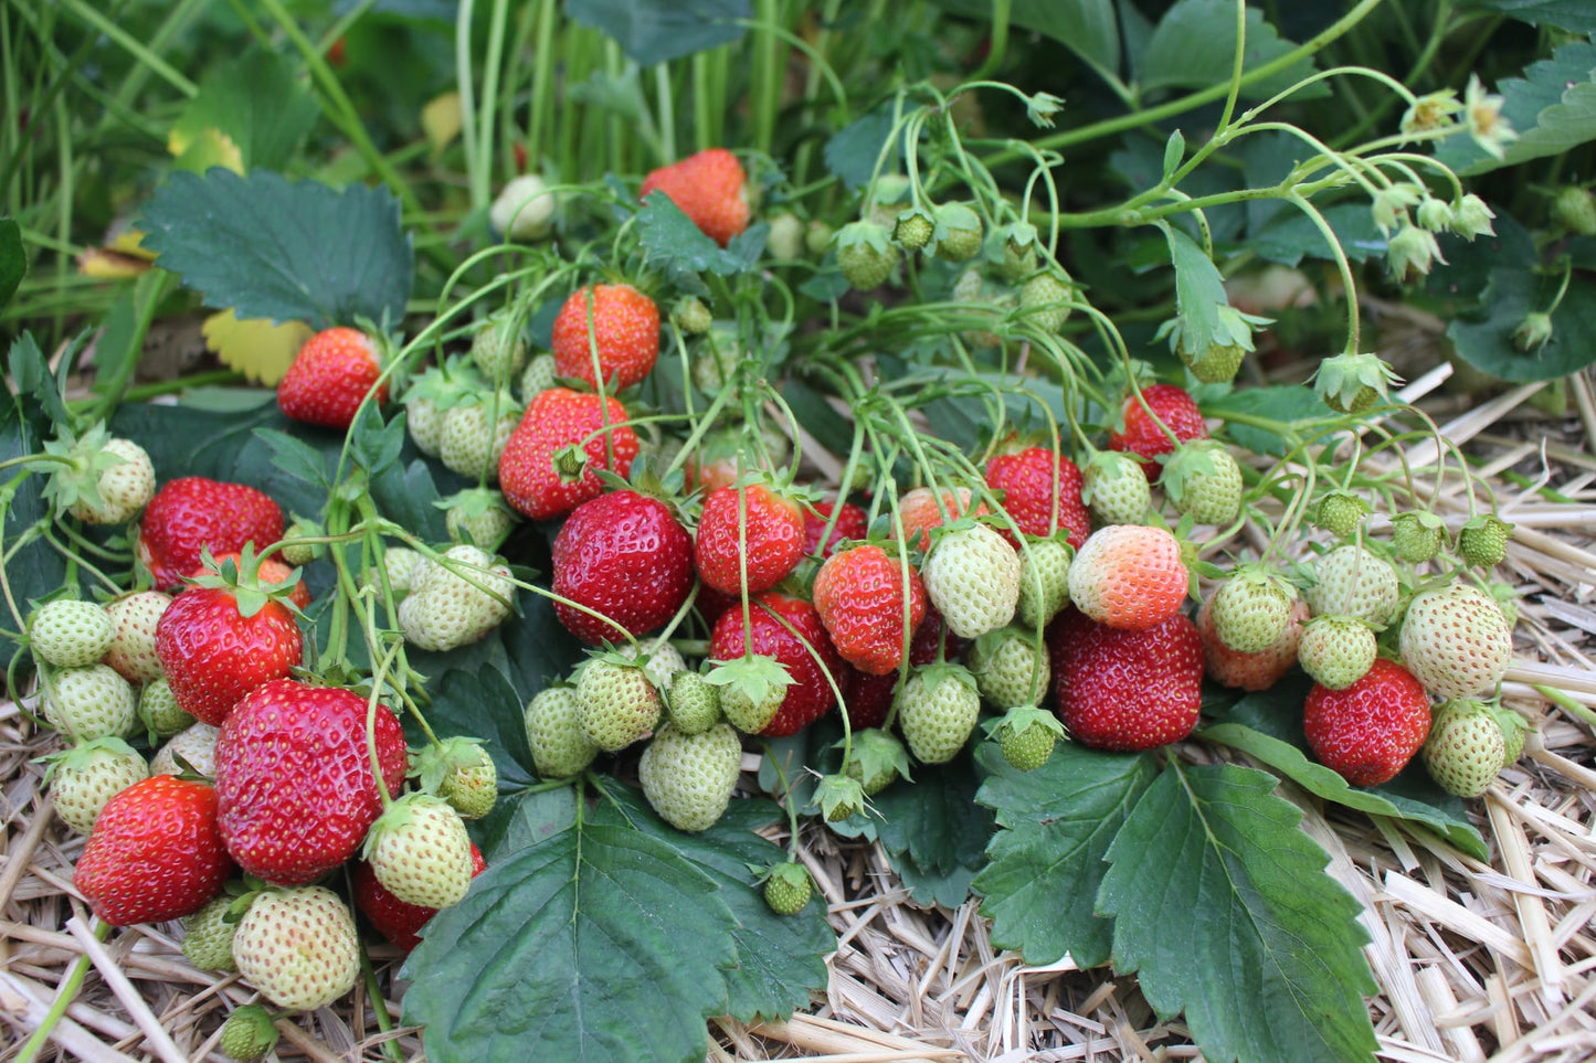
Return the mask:
<path id="1" fill-rule="evenodd" d="M 1400 646 L 1408 670 L 1448 701 L 1487 693 L 1513 662 L 1513 630 L 1502 610 L 1484 591 L 1460 583 L 1414 595 Z"/>

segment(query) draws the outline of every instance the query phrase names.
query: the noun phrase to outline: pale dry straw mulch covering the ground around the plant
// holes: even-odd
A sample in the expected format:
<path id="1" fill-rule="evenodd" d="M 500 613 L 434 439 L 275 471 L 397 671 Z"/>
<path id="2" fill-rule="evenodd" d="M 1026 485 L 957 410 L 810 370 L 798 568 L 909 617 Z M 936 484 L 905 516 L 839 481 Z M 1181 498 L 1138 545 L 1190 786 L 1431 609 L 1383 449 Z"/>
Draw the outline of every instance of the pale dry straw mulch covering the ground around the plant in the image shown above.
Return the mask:
<path id="1" fill-rule="evenodd" d="M 1404 397 L 1430 393 L 1446 367 Z M 1441 843 L 1419 844 L 1385 824 L 1304 808 L 1307 830 L 1331 854 L 1331 873 L 1365 905 L 1366 953 L 1381 985 L 1369 1001 L 1382 1058 L 1588 1060 L 1596 1057 L 1596 402 L 1570 381 L 1578 417 L 1550 417 L 1527 401 L 1542 385 L 1473 405 L 1430 396 L 1444 434 L 1467 445 L 1516 524 L 1503 575 L 1523 595 L 1518 662 L 1507 702 L 1535 726 L 1475 820 L 1491 846 L 1478 863 Z M 1411 452 L 1417 466 L 1433 453 Z M 1433 464 L 1430 466 L 1433 469 Z M 1457 484 L 1456 474 L 1448 479 Z M 1550 487 L 1570 503 L 1542 501 Z M 1438 511 L 1462 520 L 1462 500 Z M 1558 704 L 1539 688 L 1550 688 Z M 1582 718 L 1583 715 L 1583 718 Z M 14 1058 L 72 972 L 77 999 L 41 1058 L 220 1060 L 225 1014 L 254 998 L 228 978 L 193 970 L 176 924 L 129 927 L 104 945 L 72 892 L 81 840 L 51 814 L 40 785 L 54 737 L 0 705 L 0 1060 Z M 1200 749 L 1191 755 L 1207 755 Z M 710 1060 L 1178 1060 L 1197 1049 L 1179 1022 L 1160 1023 L 1133 978 L 1112 972 L 1026 967 L 999 953 L 967 902 L 954 911 L 913 905 L 870 846 L 809 828 L 804 860 L 839 935 L 832 978 L 806 1015 L 747 1028 L 715 1023 Z M 388 999 L 365 988 L 337 1009 L 282 1020 L 284 1060 L 380 1060 L 383 1042 L 420 1058 L 415 1029 L 397 1022 L 393 951 L 377 953 Z M 393 1023 L 385 1023 L 393 1026 Z"/>

